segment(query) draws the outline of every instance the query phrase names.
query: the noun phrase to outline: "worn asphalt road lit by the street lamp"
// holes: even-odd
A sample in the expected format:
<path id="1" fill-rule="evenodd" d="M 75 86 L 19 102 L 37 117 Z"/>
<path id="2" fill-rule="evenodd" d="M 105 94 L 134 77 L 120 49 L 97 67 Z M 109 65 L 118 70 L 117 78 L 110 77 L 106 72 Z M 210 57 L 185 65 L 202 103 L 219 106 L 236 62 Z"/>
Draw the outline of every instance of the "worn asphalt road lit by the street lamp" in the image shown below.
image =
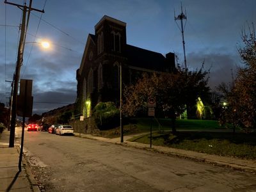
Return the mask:
<path id="1" fill-rule="evenodd" d="M 25 131 L 24 153 L 42 191 L 256 191 L 252 173 L 74 136 Z"/>

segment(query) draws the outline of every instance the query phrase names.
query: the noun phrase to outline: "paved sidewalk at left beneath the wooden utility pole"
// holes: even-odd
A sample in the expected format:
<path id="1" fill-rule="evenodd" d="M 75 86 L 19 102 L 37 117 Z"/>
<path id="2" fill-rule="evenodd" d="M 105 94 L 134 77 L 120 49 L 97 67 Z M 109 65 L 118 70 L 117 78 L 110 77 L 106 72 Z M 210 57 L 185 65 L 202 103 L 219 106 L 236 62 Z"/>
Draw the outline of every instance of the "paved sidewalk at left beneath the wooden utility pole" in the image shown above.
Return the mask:
<path id="1" fill-rule="evenodd" d="M 9 148 L 9 135 L 6 130 L 0 134 L 0 191 L 40 191 L 24 158 L 19 172 L 20 148 Z"/>

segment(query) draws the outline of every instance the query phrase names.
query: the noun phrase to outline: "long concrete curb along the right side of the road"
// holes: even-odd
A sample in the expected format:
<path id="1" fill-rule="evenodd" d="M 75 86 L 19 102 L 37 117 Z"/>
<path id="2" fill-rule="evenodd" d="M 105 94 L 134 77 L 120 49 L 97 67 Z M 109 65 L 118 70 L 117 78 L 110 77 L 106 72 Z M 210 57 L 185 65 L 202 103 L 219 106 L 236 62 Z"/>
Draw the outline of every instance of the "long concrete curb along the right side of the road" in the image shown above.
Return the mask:
<path id="1" fill-rule="evenodd" d="M 77 136 L 77 137 L 79 137 L 79 136 Z M 167 156 L 181 157 L 181 158 L 184 158 L 184 159 L 191 159 L 193 161 L 200 161 L 200 162 L 209 163 L 209 164 L 211 163 L 211 164 L 214 164 L 216 166 L 228 167 L 228 168 L 232 168 L 234 170 L 256 173 L 256 166 L 255 167 L 250 167 L 250 166 L 245 166 L 243 164 L 238 164 L 238 163 L 235 164 L 235 163 L 227 163 L 227 162 L 224 162 L 224 161 L 212 160 L 212 159 L 209 159 L 209 158 L 204 157 L 204 156 L 214 157 L 214 155 L 203 154 L 203 153 L 199 153 L 199 152 L 195 152 L 195 153 L 200 154 L 200 156 L 192 156 L 192 155 L 189 155 L 189 154 L 182 154 L 182 153 L 178 153 L 178 152 L 164 151 L 164 150 L 159 149 L 160 147 L 157 148 L 157 146 L 152 146 L 152 148 L 150 148 L 150 147 L 147 147 L 147 146 L 143 146 L 143 145 L 146 145 L 146 144 L 141 144 L 141 143 L 137 143 L 137 142 L 124 141 L 124 143 L 119 143 L 119 142 L 111 141 L 107 138 L 100 138 L 99 139 L 99 137 L 86 136 L 86 134 L 83 134 L 83 136 L 81 136 L 80 138 L 104 141 L 104 142 L 107 142 L 107 143 L 122 145 L 124 147 L 138 148 L 138 149 L 142 149 L 142 150 L 148 150 L 150 152 L 157 152 L 157 153 L 165 154 Z M 170 149 L 172 149 L 172 148 L 170 148 Z M 173 148 L 173 150 L 176 150 L 176 149 Z M 189 151 L 189 152 L 191 152 L 191 151 Z M 193 153 L 193 152 L 191 152 L 191 153 Z M 218 159 L 218 158 L 220 158 L 220 156 L 216 156 L 216 159 Z M 234 160 L 236 161 L 236 159 L 234 159 Z"/>

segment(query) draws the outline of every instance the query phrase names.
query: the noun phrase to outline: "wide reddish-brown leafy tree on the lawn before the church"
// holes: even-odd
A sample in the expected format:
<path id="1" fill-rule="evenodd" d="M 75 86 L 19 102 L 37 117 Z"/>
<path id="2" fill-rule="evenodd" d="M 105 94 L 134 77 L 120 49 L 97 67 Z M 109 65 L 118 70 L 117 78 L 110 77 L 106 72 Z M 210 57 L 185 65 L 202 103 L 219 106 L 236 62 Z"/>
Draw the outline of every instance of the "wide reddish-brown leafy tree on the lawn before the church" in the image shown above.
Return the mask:
<path id="1" fill-rule="evenodd" d="M 124 113 L 136 116 L 147 111 L 148 97 L 157 100 L 156 113 L 172 118 L 172 131 L 175 132 L 175 118 L 183 113 L 186 106 L 195 105 L 196 99 L 209 94 L 207 86 L 208 72 L 188 71 L 180 67 L 172 73 L 143 74 L 136 84 L 126 86 L 124 90 Z"/>

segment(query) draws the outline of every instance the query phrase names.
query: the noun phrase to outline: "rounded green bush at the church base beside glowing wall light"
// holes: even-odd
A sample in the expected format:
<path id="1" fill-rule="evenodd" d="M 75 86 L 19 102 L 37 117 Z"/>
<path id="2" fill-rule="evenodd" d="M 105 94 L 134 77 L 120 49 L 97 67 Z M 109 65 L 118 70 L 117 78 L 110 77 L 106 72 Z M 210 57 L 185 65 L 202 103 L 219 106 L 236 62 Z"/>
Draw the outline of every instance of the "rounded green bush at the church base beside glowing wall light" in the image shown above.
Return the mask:
<path id="1" fill-rule="evenodd" d="M 93 109 L 93 118 L 100 130 L 112 129 L 120 124 L 120 111 L 113 102 L 99 102 Z"/>

